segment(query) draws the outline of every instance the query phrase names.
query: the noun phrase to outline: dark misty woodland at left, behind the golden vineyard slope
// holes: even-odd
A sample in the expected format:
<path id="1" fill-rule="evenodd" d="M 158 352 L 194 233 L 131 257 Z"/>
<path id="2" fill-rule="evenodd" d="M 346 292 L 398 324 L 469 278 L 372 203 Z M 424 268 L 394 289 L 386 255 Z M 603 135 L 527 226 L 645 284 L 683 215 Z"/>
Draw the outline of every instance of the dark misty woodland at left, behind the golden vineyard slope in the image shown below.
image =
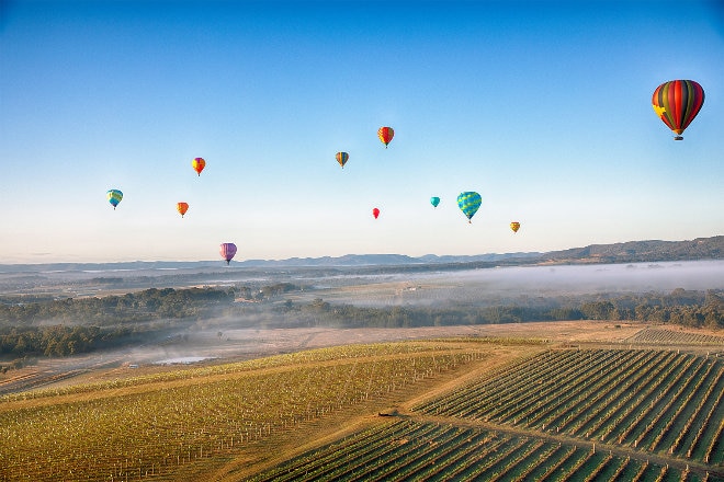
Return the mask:
<path id="1" fill-rule="evenodd" d="M 293 289 L 276 284 L 251 287 L 157 289 L 102 298 L 22 302 L 0 300 L 0 357 L 14 357 L 0 370 L 33 356 L 68 356 L 152 341 L 169 328 L 223 313 L 237 297 L 262 301 Z M 0 358 L 1 359 L 1 358 Z"/>

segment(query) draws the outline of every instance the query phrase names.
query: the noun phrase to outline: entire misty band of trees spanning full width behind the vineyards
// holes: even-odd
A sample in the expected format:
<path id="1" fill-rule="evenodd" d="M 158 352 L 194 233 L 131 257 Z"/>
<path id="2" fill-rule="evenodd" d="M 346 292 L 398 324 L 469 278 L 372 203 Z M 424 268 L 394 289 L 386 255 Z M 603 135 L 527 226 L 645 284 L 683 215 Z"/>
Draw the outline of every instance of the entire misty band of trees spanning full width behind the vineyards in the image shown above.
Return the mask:
<path id="1" fill-rule="evenodd" d="M 102 298 L 0 300 L 0 357 L 67 356 L 154 341 L 169 328 L 223 318 L 238 326 L 414 328 L 528 321 L 630 320 L 724 328 L 724 291 L 520 298 L 505 305 L 357 307 L 282 299 L 301 287 L 157 289 Z M 253 301 L 239 302 L 235 300 Z M 8 366 L 5 366 L 5 369 Z"/>

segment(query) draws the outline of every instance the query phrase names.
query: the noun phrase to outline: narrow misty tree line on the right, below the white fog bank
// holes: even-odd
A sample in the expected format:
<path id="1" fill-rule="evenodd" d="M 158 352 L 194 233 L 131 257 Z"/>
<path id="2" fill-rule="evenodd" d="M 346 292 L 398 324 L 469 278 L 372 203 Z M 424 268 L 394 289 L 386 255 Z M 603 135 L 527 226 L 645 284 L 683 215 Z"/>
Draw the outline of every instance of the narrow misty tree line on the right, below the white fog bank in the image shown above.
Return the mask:
<path id="1" fill-rule="evenodd" d="M 317 298 L 306 305 L 291 301 L 278 311 L 308 325 L 339 328 L 414 328 L 454 324 L 522 323 L 531 321 L 627 320 L 692 328 L 724 328 L 724 291 L 601 295 L 598 297 L 521 298 L 509 305 L 385 308 L 331 305 Z"/>

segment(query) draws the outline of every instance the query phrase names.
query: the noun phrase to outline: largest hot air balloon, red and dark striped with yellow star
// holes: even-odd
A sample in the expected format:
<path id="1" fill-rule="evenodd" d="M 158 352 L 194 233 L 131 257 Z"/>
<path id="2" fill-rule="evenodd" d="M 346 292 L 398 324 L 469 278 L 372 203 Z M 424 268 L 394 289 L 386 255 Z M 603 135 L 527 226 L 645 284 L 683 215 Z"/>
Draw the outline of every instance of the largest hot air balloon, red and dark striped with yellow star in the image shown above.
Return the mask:
<path id="1" fill-rule="evenodd" d="M 704 90 L 693 80 L 670 80 L 654 91 L 652 106 L 664 124 L 674 130 L 674 140 L 682 140 L 683 129 L 704 105 Z"/>

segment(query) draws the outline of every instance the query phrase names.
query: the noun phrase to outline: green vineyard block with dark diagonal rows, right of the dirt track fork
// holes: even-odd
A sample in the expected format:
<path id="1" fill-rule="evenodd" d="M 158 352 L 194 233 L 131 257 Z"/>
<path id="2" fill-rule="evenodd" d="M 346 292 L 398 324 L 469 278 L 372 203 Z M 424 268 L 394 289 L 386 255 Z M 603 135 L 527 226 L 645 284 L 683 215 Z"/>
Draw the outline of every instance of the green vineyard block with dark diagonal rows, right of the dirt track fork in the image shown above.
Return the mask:
<path id="1" fill-rule="evenodd" d="M 539 354 L 415 408 L 724 462 L 724 360 L 647 349 Z"/>

